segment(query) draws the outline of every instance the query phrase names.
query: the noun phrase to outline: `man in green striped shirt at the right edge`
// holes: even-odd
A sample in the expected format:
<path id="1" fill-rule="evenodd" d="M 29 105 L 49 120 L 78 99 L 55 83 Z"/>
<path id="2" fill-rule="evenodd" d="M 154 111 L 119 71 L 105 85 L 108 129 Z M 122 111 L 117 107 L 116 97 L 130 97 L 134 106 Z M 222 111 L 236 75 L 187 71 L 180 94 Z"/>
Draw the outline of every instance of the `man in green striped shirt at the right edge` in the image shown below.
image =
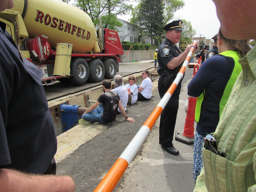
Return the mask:
<path id="1" fill-rule="evenodd" d="M 223 36 L 256 39 L 255 1 L 213 2 Z M 218 153 L 203 148 L 204 168 L 196 180 L 195 192 L 256 191 L 256 47 L 239 62 L 243 71 L 213 134 Z"/>

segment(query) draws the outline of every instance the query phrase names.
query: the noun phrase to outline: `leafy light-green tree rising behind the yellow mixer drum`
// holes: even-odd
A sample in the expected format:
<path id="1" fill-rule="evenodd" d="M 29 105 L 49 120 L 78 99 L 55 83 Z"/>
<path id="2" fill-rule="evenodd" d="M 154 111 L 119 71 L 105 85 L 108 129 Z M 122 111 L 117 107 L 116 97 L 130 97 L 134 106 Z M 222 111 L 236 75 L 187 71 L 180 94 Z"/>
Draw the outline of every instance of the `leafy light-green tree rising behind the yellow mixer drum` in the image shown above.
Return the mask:
<path id="1" fill-rule="evenodd" d="M 64 0 L 63 0 L 64 1 Z M 116 30 L 122 23 L 117 20 L 117 15 L 130 12 L 132 5 L 128 0 L 75 0 L 75 5 L 86 12 L 95 26 L 99 25 L 99 15 L 102 14 L 104 28 Z"/>

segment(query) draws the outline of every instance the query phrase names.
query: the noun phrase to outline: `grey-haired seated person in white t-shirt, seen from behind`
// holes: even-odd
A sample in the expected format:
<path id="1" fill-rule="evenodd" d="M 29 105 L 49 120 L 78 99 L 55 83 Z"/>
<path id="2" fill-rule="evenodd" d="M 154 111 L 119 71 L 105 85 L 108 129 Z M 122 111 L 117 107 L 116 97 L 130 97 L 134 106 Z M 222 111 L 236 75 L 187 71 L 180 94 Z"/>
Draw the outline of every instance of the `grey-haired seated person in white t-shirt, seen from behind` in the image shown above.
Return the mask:
<path id="1" fill-rule="evenodd" d="M 114 82 L 116 84 L 116 88 L 112 89 L 111 91 L 118 93 L 122 106 L 124 107 L 124 110 L 126 110 L 127 102 L 128 102 L 128 90 L 123 85 L 123 78 L 121 75 L 115 75 L 114 76 Z M 117 109 L 119 113 L 121 113 L 121 110 Z"/>

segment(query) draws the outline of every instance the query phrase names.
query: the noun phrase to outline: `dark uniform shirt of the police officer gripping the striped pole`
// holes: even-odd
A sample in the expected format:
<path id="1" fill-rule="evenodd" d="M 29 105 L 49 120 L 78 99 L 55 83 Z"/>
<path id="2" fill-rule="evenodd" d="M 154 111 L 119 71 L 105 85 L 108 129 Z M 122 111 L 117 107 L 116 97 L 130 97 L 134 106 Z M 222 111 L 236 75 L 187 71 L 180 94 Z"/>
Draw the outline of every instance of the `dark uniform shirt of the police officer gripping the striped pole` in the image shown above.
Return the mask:
<path id="1" fill-rule="evenodd" d="M 169 74 L 177 75 L 179 72 L 182 63 L 174 69 L 167 68 L 167 63 L 171 61 L 174 57 L 178 57 L 181 54 L 181 51 L 178 47 L 172 43 L 169 39 L 165 39 L 164 42 L 159 46 L 157 58 L 158 58 L 158 68 L 157 73 L 161 76 L 165 76 L 164 69 L 167 69 Z"/>

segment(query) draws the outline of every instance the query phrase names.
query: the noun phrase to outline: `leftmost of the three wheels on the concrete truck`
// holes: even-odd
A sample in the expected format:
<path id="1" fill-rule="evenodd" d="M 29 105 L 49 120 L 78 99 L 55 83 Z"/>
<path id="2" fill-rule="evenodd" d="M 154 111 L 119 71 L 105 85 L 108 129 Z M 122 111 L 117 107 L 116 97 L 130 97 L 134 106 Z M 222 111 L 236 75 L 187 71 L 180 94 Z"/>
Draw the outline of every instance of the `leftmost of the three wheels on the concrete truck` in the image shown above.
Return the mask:
<path id="1" fill-rule="evenodd" d="M 72 60 L 70 69 L 73 76 L 69 77 L 69 81 L 77 85 L 85 84 L 89 77 L 89 67 L 87 62 L 82 58 L 74 59 Z"/>

